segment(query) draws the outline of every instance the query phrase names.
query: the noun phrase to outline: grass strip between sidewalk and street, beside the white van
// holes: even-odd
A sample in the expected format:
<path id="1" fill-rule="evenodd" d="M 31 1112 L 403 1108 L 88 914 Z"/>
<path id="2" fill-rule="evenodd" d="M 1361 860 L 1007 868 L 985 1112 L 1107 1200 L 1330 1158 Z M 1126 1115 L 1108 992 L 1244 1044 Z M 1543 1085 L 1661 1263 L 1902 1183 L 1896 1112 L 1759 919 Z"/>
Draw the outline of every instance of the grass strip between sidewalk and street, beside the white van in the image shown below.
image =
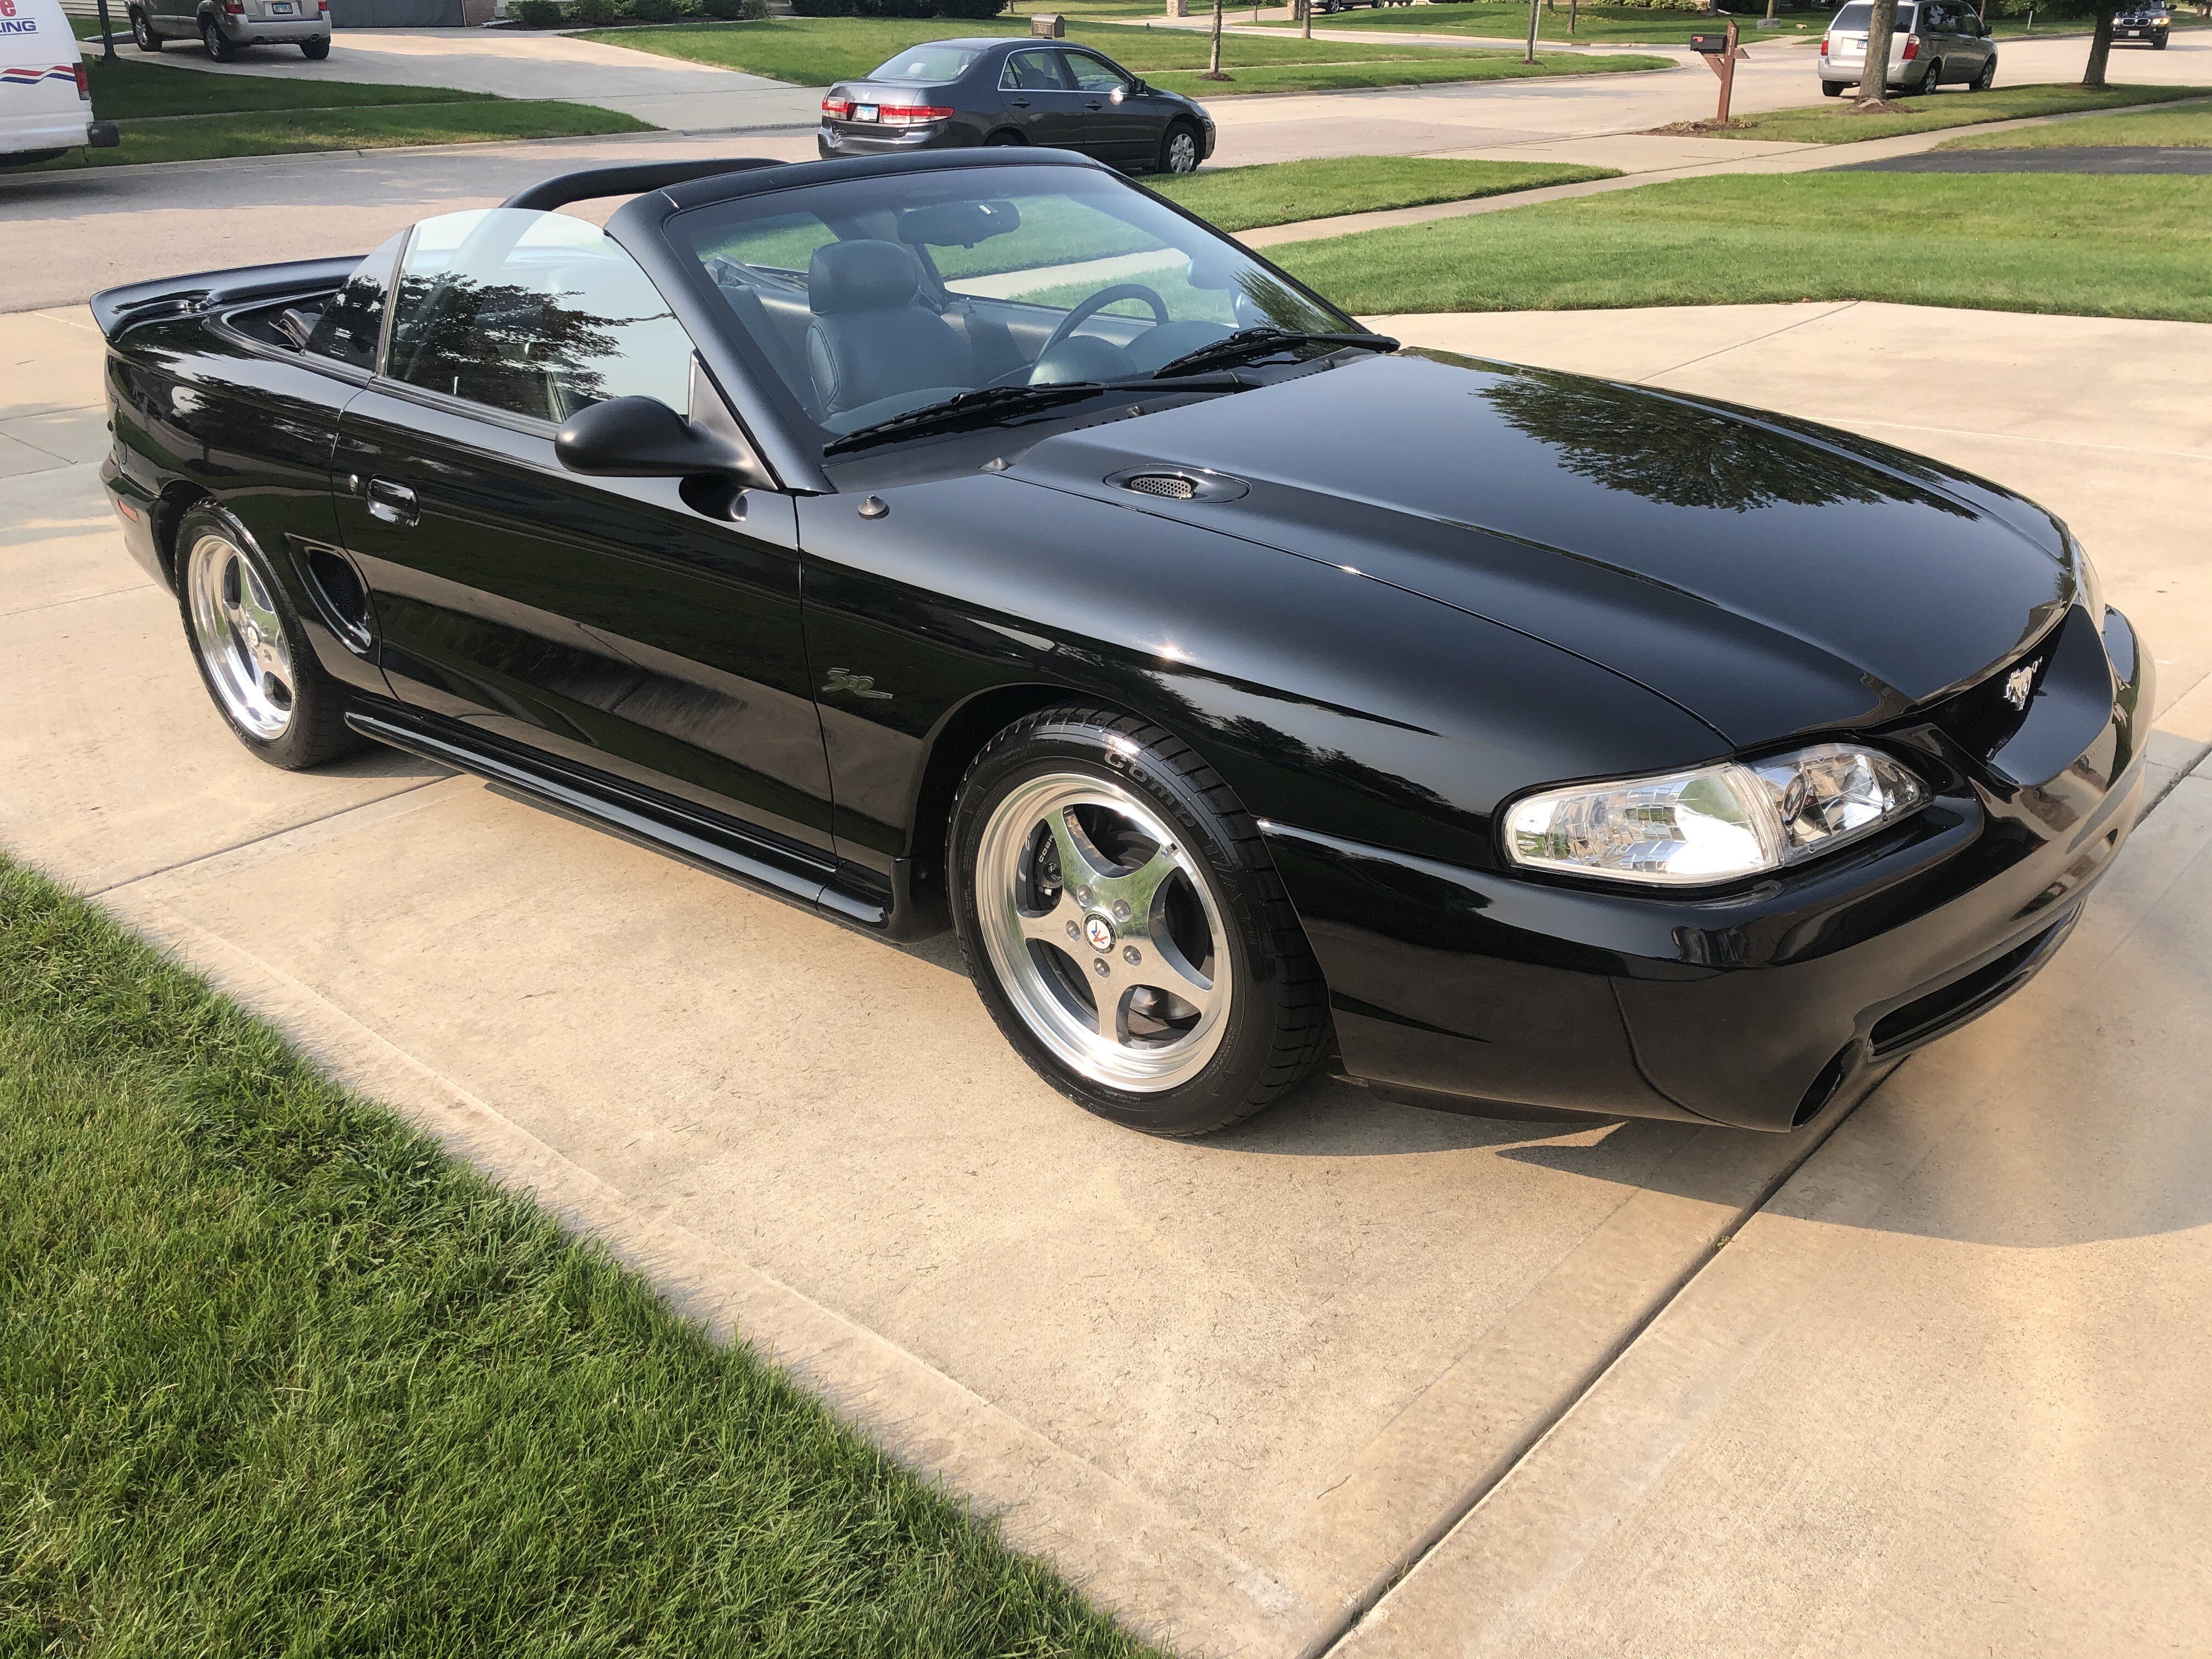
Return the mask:
<path id="1" fill-rule="evenodd" d="M 142 126 L 126 124 L 122 144 L 113 150 L 71 150 L 44 166 L 46 170 L 111 168 L 146 161 L 212 161 L 226 155 L 385 150 L 407 144 L 491 144 L 495 139 L 650 131 L 650 122 L 611 108 L 535 100 L 184 115 L 150 119 Z"/>

